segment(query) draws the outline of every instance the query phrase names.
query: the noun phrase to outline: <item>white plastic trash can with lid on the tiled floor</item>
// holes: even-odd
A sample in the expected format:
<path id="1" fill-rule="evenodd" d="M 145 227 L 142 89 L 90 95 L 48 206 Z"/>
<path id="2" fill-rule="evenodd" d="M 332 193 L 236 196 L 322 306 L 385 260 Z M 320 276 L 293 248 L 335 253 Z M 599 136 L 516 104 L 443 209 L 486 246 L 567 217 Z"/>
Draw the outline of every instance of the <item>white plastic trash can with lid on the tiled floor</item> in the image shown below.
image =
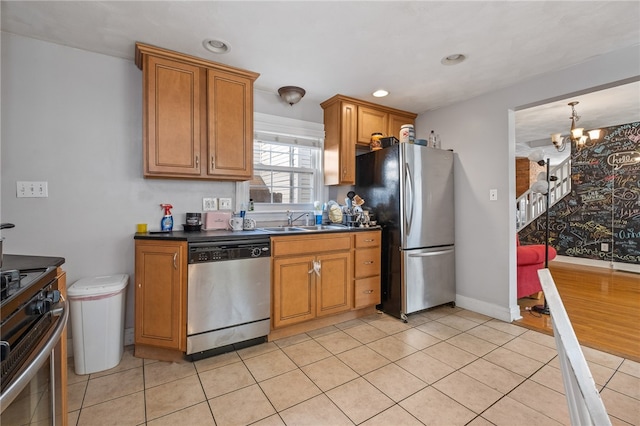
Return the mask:
<path id="1" fill-rule="evenodd" d="M 124 299 L 129 275 L 82 278 L 67 288 L 76 374 L 115 367 L 124 352 Z"/>

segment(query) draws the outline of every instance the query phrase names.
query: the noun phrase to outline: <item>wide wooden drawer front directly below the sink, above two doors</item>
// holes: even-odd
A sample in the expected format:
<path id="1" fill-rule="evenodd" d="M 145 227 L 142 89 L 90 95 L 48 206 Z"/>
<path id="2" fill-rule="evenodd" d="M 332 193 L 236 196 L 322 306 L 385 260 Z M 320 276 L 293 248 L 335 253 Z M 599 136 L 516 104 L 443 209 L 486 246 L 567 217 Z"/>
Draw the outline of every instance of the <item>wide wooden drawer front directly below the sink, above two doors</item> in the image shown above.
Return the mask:
<path id="1" fill-rule="evenodd" d="M 349 233 L 271 238 L 274 257 L 342 251 L 350 248 L 351 234 Z"/>

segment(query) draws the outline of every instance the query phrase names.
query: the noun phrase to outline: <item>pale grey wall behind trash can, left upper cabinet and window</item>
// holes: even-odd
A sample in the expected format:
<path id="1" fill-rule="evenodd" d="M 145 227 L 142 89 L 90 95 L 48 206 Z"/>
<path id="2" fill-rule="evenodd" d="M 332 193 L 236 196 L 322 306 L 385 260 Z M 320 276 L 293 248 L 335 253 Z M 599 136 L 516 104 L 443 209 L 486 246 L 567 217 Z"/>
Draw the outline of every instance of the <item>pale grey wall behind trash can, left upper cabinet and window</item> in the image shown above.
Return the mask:
<path id="1" fill-rule="evenodd" d="M 132 46 L 133 49 L 133 46 Z M 2 33 L 1 221 L 4 252 L 66 259 L 68 285 L 86 276 L 133 279 L 136 223 L 174 226 L 202 197 L 235 184 L 142 178 L 142 72 L 132 61 Z M 260 112 L 322 122 L 319 103 L 291 107 L 257 91 Z M 296 116 L 296 114 L 298 116 Z M 16 198 L 16 181 L 47 181 L 48 198 Z M 125 326 L 133 326 L 133 284 Z"/>

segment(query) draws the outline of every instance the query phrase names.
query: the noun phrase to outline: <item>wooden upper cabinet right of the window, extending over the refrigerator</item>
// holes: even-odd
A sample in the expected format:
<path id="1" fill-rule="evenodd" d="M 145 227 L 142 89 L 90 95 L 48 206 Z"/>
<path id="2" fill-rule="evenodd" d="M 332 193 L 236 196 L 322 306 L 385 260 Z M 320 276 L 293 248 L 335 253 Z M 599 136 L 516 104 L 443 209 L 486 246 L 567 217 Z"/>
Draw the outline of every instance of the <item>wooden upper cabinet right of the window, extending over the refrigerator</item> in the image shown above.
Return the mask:
<path id="1" fill-rule="evenodd" d="M 372 133 L 399 138 L 400 126 L 414 124 L 416 114 L 335 95 L 324 110 L 324 183 L 354 185 L 356 146 L 369 147 Z"/>

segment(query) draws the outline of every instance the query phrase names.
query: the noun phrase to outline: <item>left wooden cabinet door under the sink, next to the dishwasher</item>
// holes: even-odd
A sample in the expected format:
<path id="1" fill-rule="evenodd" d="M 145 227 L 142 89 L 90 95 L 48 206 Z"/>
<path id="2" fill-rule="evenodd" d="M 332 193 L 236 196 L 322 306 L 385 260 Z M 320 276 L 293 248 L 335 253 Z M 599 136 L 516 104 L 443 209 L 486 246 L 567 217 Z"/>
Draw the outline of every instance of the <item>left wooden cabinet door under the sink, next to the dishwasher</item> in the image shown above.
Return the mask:
<path id="1" fill-rule="evenodd" d="M 315 317 L 316 274 L 312 256 L 273 261 L 273 327 L 296 324 Z"/>

